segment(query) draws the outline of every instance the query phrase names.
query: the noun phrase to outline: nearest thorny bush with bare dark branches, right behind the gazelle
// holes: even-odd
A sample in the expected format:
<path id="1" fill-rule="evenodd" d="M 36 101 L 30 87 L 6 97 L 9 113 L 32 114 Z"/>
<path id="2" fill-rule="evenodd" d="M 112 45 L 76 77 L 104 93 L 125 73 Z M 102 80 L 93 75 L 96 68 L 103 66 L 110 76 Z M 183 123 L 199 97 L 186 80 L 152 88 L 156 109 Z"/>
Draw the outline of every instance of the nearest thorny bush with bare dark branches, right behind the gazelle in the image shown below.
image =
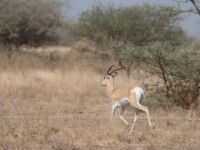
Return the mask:
<path id="1" fill-rule="evenodd" d="M 171 42 L 154 42 L 135 46 L 115 43 L 110 48 L 117 59 L 140 64 L 140 69 L 148 76 L 161 79 L 160 83 L 146 85 L 147 89 L 153 86 L 151 95 L 154 98 L 156 95 L 156 99 L 167 106 L 177 104 L 190 108 L 192 104 L 197 105 L 200 95 L 200 44 L 186 44 L 176 46 Z"/>

